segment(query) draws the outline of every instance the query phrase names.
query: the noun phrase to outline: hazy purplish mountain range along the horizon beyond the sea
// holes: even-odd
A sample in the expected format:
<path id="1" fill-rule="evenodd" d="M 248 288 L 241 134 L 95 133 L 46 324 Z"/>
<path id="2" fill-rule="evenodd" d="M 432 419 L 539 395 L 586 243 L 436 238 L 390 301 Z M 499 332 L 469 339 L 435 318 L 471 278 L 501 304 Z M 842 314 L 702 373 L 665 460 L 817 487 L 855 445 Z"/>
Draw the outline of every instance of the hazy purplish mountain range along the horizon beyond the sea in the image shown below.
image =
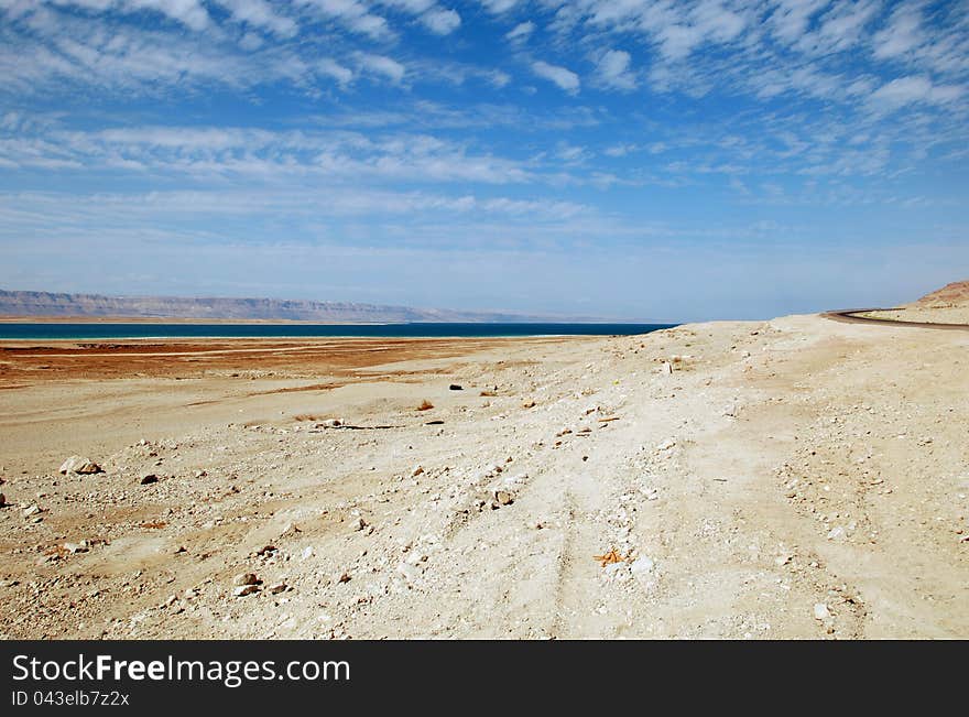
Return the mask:
<path id="1" fill-rule="evenodd" d="M 583 321 L 502 312 L 457 312 L 351 302 L 182 296 L 102 296 L 0 290 L 0 316 L 134 319 L 236 319 L 319 324 L 404 324 L 443 322 L 524 323 Z M 595 319 L 585 319 L 595 321 Z"/>

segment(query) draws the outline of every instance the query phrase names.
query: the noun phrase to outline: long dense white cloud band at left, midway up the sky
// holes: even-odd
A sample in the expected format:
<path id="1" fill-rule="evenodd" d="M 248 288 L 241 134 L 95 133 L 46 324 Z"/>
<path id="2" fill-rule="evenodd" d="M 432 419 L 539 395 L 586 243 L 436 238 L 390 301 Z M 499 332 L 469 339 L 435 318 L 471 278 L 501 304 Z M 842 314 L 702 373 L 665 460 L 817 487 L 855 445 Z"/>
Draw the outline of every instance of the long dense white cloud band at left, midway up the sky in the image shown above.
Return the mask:
<path id="1" fill-rule="evenodd" d="M 339 65 L 334 64 L 336 73 Z M 135 171 L 186 181 L 330 181 L 531 183 L 541 175 L 522 162 L 472 154 L 428 134 L 272 131 L 225 127 L 121 127 L 97 132 L 24 132 L 18 116 L 0 128 L 8 166 Z"/>

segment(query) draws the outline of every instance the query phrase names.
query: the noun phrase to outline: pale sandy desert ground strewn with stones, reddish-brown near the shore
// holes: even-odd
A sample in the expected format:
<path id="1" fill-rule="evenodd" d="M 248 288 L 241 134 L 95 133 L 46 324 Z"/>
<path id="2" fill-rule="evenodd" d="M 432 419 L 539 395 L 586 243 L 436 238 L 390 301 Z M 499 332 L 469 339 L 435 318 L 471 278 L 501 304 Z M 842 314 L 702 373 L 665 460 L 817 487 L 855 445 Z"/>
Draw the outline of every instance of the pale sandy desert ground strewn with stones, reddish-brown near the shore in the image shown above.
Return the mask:
<path id="1" fill-rule="evenodd" d="M 967 398 L 821 316 L 7 344 L 0 635 L 969 638 Z"/>

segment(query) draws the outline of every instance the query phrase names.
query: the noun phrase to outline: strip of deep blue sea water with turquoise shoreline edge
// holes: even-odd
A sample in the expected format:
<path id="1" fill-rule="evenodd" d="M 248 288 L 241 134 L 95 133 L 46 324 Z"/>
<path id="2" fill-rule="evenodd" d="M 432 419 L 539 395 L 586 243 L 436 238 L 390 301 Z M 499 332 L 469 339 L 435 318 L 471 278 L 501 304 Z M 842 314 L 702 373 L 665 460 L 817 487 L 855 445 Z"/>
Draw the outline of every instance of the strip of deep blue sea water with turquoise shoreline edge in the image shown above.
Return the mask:
<path id="1" fill-rule="evenodd" d="M 675 324 L 29 324 L 0 323 L 0 339 L 486 338 L 649 334 Z"/>

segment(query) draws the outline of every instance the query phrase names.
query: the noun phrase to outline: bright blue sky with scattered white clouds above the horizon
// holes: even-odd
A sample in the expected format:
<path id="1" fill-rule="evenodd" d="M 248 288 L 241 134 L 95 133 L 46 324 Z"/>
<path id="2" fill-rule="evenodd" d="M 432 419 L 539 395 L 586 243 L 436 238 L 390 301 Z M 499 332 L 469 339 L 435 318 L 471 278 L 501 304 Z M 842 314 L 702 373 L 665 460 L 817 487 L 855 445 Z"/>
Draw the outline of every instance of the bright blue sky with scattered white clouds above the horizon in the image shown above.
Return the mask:
<path id="1" fill-rule="evenodd" d="M 969 3 L 0 0 L 0 286 L 693 321 L 969 278 Z"/>

